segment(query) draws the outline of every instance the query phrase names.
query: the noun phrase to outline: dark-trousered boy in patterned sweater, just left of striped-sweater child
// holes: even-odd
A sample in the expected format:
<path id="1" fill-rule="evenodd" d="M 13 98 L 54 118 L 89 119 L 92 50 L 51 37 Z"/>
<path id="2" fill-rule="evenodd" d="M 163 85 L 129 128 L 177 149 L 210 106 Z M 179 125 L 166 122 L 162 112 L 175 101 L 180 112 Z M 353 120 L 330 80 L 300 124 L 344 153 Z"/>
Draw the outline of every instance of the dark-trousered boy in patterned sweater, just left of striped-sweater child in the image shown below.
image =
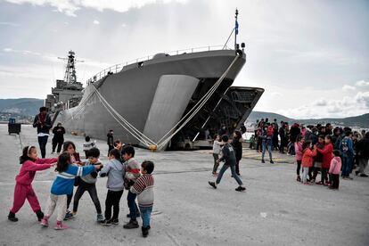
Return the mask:
<path id="1" fill-rule="evenodd" d="M 136 217 L 139 216 L 138 214 L 138 207 L 137 204 L 135 204 L 135 193 L 131 193 L 129 190 L 132 185 L 135 184 L 135 181 L 139 176 L 141 176 L 140 173 L 140 165 L 138 162 L 134 159 L 135 157 L 135 148 L 133 146 L 126 146 L 123 148 L 123 159 L 126 160 L 125 168 L 126 168 L 126 174 L 124 178 L 124 185 L 125 188 L 128 190 L 127 194 L 127 203 L 129 208 L 129 215 L 127 217 L 130 217 L 131 219 L 126 225 L 123 225 L 123 228 L 125 229 L 134 229 L 138 228 L 138 223 Z"/>

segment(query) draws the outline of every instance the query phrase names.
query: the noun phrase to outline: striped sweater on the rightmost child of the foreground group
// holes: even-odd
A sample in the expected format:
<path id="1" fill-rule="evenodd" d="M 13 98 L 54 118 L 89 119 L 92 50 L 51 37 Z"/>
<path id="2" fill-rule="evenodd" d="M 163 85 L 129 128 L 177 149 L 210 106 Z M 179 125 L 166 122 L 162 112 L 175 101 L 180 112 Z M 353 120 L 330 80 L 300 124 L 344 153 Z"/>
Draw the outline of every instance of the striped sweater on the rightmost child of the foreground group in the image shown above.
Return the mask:
<path id="1" fill-rule="evenodd" d="M 153 187 L 154 179 L 151 174 L 144 174 L 137 178 L 130 191 L 137 194 L 139 206 L 152 207 L 154 200 Z"/>

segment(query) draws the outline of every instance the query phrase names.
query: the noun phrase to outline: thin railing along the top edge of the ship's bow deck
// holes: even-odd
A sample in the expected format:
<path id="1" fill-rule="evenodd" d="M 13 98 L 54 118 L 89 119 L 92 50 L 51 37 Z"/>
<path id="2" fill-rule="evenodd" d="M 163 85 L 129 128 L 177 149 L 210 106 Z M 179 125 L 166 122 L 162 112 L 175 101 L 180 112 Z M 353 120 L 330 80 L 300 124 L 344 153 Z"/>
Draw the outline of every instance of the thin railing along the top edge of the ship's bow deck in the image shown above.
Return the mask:
<path id="1" fill-rule="evenodd" d="M 184 49 L 184 50 L 170 51 L 165 54 L 178 55 L 178 54 L 184 54 L 184 53 L 210 52 L 210 51 L 216 51 L 216 50 L 231 50 L 231 48 L 229 48 L 226 45 L 225 46 L 224 45 L 212 45 L 212 46 L 202 46 L 202 47 L 189 48 L 189 49 Z M 119 63 L 107 69 L 101 70 L 100 72 L 96 73 L 92 78 L 87 79 L 87 85 L 89 85 L 90 83 L 94 83 L 100 80 L 101 78 L 104 78 L 107 75 L 117 73 L 120 70 L 122 70 L 124 67 L 126 67 L 127 65 L 152 60 L 152 57 L 154 56 L 155 54 L 143 56 L 135 60 Z"/>

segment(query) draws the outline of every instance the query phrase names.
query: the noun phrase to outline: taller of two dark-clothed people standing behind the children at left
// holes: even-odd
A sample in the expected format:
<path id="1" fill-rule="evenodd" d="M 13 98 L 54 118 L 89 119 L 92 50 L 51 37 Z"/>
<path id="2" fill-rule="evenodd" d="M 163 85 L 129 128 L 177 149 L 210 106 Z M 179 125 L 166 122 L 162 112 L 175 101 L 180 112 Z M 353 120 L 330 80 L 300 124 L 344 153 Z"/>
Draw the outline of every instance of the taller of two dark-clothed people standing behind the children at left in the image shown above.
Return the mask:
<path id="1" fill-rule="evenodd" d="M 40 113 L 33 120 L 33 127 L 37 127 L 38 145 L 40 146 L 42 158 L 45 158 L 47 138 L 49 137 L 49 130 L 52 127 L 51 118 L 47 114 L 46 107 L 40 108 Z"/>

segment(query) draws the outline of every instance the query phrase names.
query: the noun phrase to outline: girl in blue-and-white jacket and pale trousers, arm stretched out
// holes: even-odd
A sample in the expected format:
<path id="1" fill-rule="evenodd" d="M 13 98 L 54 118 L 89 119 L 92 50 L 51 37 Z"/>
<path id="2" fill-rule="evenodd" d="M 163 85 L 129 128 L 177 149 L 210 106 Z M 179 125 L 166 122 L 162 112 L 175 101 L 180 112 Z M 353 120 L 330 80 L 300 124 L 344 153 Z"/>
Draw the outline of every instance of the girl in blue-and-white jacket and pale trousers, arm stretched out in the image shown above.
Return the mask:
<path id="1" fill-rule="evenodd" d="M 63 152 L 58 158 L 56 171 L 58 174 L 53 180 L 50 196 L 47 200 L 45 216 L 41 220 L 41 225 L 48 226 L 49 218 L 53 215 L 53 210 L 57 208 L 57 218 L 55 230 L 67 229 L 68 225 L 62 223 L 62 219 L 67 209 L 67 194 L 73 192 L 73 184 L 76 176 L 86 176 L 87 174 L 101 168 L 101 165 L 89 165 L 77 167 L 71 164 L 70 153 Z"/>

